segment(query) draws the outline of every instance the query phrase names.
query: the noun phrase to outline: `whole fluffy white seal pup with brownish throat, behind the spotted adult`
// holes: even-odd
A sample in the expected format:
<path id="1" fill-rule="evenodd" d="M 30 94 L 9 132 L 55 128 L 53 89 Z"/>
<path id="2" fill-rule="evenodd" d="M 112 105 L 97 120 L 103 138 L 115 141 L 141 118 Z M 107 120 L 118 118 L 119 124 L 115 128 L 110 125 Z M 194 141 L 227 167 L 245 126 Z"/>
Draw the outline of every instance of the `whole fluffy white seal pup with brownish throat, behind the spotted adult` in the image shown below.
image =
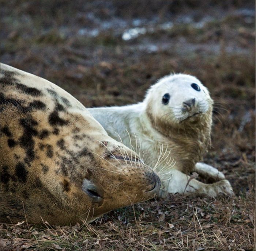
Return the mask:
<path id="1" fill-rule="evenodd" d="M 210 145 L 213 101 L 195 77 L 174 74 L 151 86 L 142 103 L 89 109 L 108 134 L 130 148 L 139 148 L 147 165 L 158 171 L 163 191 L 233 194 L 229 181 L 214 167 L 200 163 Z M 138 151 L 138 150 L 137 150 Z M 212 184 L 195 179 L 210 178 Z"/>

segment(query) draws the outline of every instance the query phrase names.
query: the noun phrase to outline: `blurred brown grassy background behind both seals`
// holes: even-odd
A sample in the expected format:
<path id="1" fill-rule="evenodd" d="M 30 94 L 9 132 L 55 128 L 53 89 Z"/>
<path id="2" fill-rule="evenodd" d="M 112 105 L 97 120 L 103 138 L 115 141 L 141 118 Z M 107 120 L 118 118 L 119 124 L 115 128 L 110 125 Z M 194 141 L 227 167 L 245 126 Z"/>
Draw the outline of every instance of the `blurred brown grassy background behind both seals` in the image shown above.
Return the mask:
<path id="1" fill-rule="evenodd" d="M 215 100 L 206 162 L 255 184 L 255 1 L 2 1 L 1 61 L 86 107 L 142 101 L 170 72 Z"/>

